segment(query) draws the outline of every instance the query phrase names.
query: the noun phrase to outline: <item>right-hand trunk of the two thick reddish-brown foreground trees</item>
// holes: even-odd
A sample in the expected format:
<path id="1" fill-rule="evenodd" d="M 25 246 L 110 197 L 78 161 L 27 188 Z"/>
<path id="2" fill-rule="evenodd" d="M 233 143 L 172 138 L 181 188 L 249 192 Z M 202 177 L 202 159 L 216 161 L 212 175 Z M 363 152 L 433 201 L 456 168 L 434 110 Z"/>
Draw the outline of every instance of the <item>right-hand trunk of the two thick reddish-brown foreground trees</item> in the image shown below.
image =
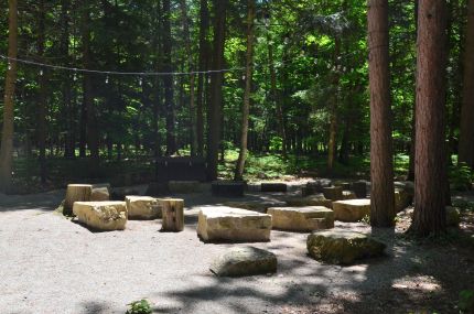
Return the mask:
<path id="1" fill-rule="evenodd" d="M 416 203 L 410 231 L 428 236 L 446 226 L 445 1 L 420 0 L 418 19 Z"/>

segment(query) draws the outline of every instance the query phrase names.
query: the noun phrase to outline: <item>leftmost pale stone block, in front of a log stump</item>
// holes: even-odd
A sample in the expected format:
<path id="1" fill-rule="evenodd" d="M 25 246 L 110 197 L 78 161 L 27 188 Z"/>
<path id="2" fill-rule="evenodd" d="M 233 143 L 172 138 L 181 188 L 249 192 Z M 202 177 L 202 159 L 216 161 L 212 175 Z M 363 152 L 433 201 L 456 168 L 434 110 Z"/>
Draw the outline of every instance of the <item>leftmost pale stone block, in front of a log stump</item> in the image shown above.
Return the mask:
<path id="1" fill-rule="evenodd" d="M 127 224 L 125 202 L 76 202 L 73 213 L 79 223 L 96 230 L 123 230 Z"/>

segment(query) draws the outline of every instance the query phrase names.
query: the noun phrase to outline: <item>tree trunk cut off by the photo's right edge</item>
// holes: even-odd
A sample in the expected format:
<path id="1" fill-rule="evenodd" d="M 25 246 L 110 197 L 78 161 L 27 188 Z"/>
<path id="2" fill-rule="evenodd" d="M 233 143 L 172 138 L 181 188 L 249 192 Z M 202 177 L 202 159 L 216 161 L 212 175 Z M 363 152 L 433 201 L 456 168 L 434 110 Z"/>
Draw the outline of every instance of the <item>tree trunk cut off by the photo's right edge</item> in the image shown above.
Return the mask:
<path id="1" fill-rule="evenodd" d="M 461 108 L 459 161 L 474 167 L 474 0 L 467 4 L 464 53 L 464 90 Z"/>

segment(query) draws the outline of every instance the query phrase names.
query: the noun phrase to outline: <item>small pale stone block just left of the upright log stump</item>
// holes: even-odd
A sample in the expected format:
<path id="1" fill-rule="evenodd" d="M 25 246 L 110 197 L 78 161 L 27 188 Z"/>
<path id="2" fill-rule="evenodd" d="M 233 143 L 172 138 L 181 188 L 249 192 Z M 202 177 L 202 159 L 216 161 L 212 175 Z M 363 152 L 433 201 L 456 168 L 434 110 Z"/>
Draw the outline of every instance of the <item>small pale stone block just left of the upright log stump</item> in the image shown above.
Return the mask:
<path id="1" fill-rule="evenodd" d="M 154 197 L 126 196 L 125 201 L 129 219 L 161 218 L 161 205 L 159 199 Z"/>

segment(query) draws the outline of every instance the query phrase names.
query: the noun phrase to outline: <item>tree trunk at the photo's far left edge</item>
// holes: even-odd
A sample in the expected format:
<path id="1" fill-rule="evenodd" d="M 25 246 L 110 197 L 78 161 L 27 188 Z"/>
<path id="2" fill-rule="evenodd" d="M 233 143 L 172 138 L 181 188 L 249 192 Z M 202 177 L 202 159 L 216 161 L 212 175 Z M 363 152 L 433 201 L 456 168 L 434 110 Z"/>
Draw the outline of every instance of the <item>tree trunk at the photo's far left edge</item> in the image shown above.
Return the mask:
<path id="1" fill-rule="evenodd" d="M 13 163 L 13 107 L 14 89 L 17 82 L 17 54 L 18 54 L 18 7 L 17 0 L 8 1 L 9 33 L 8 33 L 8 71 L 4 84 L 3 126 L 0 147 L 0 192 L 9 191 L 12 180 Z"/>

